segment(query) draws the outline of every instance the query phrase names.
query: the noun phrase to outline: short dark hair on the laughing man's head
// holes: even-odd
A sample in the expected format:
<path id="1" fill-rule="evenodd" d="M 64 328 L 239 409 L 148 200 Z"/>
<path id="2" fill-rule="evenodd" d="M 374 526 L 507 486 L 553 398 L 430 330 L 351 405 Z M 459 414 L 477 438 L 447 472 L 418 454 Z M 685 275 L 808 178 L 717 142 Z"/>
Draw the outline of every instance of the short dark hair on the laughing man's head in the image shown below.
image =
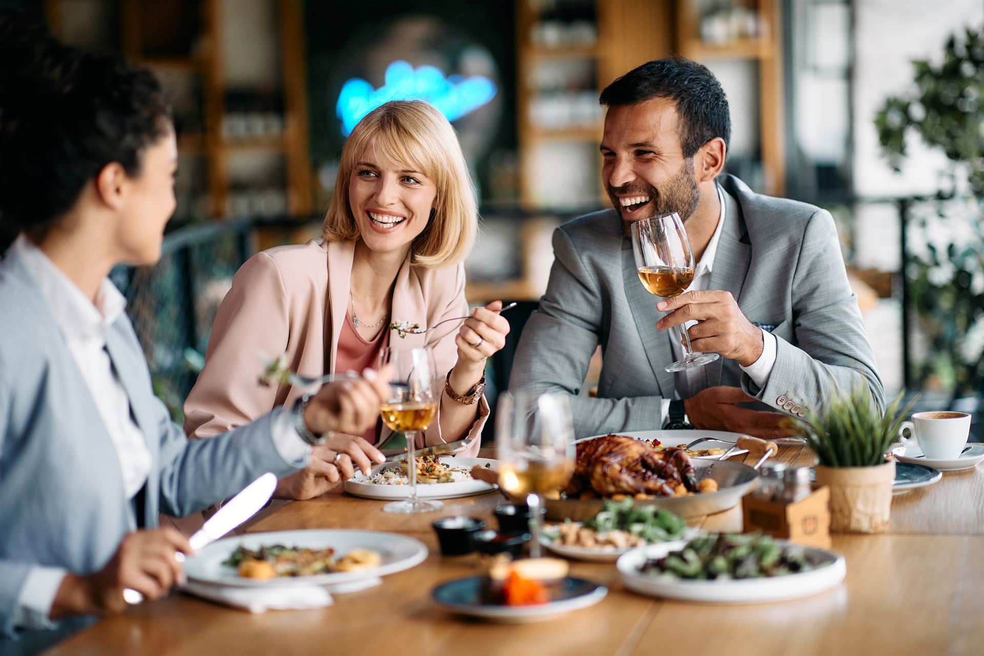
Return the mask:
<path id="1" fill-rule="evenodd" d="M 685 157 L 693 157 L 714 137 L 724 140 L 725 147 L 731 141 L 728 99 L 721 83 L 704 64 L 682 57 L 655 59 L 605 87 L 599 102 L 618 107 L 652 98 L 676 102 L 680 145 Z"/>

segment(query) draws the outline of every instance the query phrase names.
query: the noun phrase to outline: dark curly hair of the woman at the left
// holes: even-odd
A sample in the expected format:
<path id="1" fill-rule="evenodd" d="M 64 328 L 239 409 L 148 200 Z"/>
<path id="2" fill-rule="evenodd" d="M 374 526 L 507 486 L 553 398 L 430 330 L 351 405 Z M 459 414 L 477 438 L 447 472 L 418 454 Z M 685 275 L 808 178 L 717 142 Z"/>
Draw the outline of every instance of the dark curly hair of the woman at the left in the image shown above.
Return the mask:
<path id="1" fill-rule="evenodd" d="M 4 20 L 6 19 L 6 20 Z M 63 45 L 41 24 L 0 15 L 0 224 L 40 239 L 111 162 L 140 175 L 172 130 L 154 74 Z"/>

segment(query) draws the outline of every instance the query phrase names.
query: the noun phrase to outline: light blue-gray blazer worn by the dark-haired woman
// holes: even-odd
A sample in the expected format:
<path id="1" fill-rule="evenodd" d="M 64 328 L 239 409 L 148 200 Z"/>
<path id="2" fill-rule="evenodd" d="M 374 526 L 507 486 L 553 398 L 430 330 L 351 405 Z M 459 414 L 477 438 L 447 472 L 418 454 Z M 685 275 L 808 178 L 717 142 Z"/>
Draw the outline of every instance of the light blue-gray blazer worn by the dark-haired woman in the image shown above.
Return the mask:
<path id="1" fill-rule="evenodd" d="M 95 571 L 138 514 L 155 526 L 158 510 L 185 515 L 266 471 L 295 471 L 277 453 L 270 415 L 189 441 L 154 396 L 125 314 L 110 328 L 106 350 L 151 450 L 140 513 L 125 498 L 116 449 L 31 274 L 10 258 L 0 262 L 0 634 L 12 633 L 31 566 Z"/>

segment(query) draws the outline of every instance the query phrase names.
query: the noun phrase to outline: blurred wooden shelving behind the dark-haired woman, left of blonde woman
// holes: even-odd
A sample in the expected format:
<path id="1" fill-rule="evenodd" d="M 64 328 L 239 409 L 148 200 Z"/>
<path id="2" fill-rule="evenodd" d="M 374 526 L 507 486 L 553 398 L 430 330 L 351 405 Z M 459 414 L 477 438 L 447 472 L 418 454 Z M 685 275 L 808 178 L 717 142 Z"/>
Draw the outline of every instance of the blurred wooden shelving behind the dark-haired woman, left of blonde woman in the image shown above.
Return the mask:
<path id="1" fill-rule="evenodd" d="M 70 43 L 79 12 L 115 20 L 115 37 L 80 45 L 121 52 L 152 69 L 171 93 L 182 159 L 175 224 L 182 224 L 243 213 L 312 213 L 302 5 L 302 0 L 45 0 L 45 14 L 52 30 Z M 243 11 L 279 24 L 268 30 L 277 34 L 276 85 L 229 83 L 230 46 L 250 47 L 229 36 Z M 232 94 L 245 97 L 247 106 L 231 106 Z M 263 176 L 263 189 L 243 196 L 241 188 L 257 186 L 255 180 L 236 179 L 241 160 L 249 157 L 271 158 L 266 167 L 272 172 Z"/>

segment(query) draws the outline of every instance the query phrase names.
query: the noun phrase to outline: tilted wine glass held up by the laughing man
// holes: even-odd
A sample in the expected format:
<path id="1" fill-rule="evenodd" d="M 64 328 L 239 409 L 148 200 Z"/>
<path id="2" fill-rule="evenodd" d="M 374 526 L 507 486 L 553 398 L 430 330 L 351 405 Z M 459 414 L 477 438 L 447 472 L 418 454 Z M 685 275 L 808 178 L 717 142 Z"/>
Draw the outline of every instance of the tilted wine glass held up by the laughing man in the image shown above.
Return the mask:
<path id="1" fill-rule="evenodd" d="M 694 252 L 687 231 L 675 211 L 644 218 L 632 224 L 632 252 L 646 291 L 670 298 L 682 294 L 694 280 Z M 684 324 L 674 327 L 683 344 L 683 360 L 666 367 L 668 372 L 695 369 L 721 357 L 717 353 L 695 353 Z"/>

